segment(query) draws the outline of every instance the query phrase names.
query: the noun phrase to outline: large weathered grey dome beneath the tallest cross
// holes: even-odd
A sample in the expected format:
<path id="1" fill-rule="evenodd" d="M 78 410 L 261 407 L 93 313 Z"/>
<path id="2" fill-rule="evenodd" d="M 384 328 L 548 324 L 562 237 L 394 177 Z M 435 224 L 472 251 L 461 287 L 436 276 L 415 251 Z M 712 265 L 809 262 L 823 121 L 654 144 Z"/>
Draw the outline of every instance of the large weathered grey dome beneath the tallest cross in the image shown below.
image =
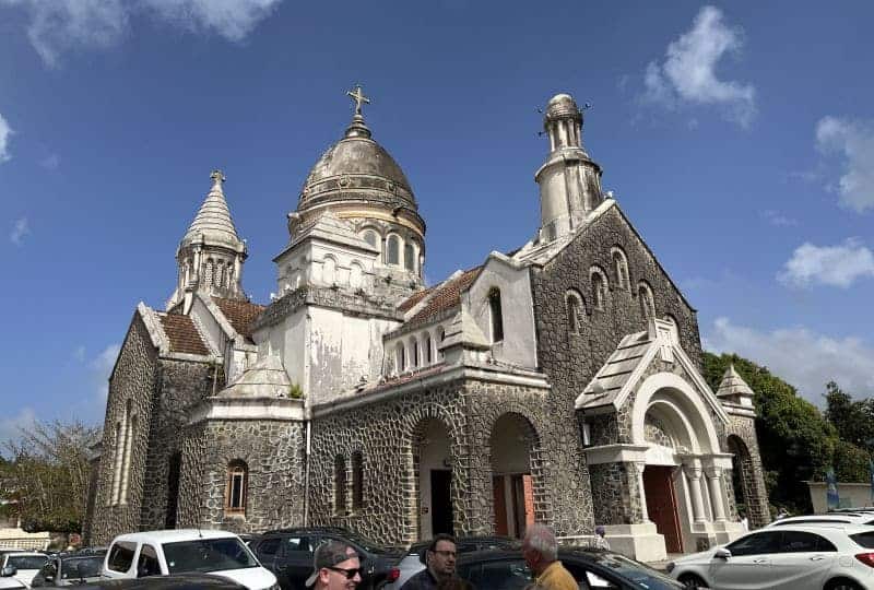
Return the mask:
<path id="1" fill-rule="evenodd" d="M 403 170 L 385 148 L 370 138 L 364 119 L 356 116 L 345 137 L 328 149 L 309 172 L 297 210 L 326 203 L 377 201 L 417 210 Z"/>

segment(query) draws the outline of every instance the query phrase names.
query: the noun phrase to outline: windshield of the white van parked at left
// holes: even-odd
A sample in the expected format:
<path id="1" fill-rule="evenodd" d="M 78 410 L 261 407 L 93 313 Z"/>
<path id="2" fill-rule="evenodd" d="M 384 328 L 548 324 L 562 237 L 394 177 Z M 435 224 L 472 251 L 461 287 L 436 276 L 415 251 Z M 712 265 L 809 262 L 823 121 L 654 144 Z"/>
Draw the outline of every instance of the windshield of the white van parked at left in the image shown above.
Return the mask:
<path id="1" fill-rule="evenodd" d="M 170 574 L 258 567 L 255 556 L 234 536 L 179 541 L 163 546 Z"/>

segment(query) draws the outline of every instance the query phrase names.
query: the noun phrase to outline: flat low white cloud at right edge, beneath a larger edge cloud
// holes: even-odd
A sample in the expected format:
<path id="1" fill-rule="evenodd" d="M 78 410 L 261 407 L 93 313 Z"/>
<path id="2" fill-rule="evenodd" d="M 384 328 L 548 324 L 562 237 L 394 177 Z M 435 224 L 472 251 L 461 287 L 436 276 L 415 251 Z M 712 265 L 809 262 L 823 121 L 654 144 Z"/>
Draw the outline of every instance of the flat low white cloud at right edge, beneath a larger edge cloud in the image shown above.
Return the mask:
<path id="1" fill-rule="evenodd" d="M 842 288 L 865 276 L 874 276 L 874 253 L 854 238 L 839 246 L 804 243 L 777 274 L 789 286 L 822 284 Z"/>

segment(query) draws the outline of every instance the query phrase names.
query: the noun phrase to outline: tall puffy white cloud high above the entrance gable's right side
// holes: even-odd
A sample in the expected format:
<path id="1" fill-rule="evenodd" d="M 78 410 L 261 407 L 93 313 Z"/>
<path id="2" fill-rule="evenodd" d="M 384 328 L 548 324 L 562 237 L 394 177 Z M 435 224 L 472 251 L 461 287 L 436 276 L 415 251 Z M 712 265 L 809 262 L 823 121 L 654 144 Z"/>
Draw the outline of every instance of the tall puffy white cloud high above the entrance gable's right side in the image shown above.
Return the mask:
<path id="1" fill-rule="evenodd" d="M 742 47 L 742 31 L 727 26 L 719 9 L 704 7 L 692 30 L 668 46 L 664 62 L 647 66 L 643 98 L 671 109 L 685 104 L 718 106 L 729 119 L 747 127 L 756 114 L 755 88 L 719 80 L 716 73 L 719 60 Z"/>

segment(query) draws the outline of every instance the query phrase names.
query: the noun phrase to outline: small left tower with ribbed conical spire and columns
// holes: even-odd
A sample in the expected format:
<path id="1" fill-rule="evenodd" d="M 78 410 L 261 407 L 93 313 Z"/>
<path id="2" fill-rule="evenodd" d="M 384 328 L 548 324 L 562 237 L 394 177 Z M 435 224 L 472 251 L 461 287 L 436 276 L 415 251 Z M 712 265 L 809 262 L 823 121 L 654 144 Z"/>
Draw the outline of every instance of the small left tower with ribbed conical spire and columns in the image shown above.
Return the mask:
<path id="1" fill-rule="evenodd" d="M 212 188 L 176 250 L 176 291 L 167 302 L 167 309 L 184 303 L 184 312 L 188 312 L 191 294 L 197 291 L 227 299 L 246 299 L 240 282 L 248 256 L 246 243 L 237 235 L 231 219 L 222 189 L 224 175 L 213 170 L 210 178 Z"/>

